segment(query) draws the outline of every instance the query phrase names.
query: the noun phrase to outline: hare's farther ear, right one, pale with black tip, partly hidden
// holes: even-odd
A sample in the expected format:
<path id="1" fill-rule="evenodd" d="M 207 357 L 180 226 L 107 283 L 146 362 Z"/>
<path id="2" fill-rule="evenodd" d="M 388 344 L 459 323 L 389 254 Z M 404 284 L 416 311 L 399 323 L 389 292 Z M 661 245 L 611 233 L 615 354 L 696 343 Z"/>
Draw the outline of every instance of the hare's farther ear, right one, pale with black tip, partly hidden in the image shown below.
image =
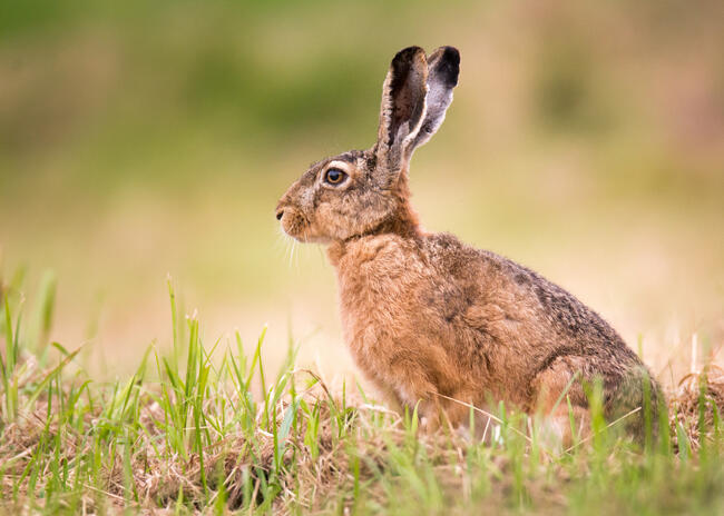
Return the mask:
<path id="1" fill-rule="evenodd" d="M 427 142 L 442 125 L 452 102 L 452 89 L 458 86 L 460 52 L 453 47 L 440 47 L 428 58 L 427 112 L 414 137 L 412 150 Z"/>

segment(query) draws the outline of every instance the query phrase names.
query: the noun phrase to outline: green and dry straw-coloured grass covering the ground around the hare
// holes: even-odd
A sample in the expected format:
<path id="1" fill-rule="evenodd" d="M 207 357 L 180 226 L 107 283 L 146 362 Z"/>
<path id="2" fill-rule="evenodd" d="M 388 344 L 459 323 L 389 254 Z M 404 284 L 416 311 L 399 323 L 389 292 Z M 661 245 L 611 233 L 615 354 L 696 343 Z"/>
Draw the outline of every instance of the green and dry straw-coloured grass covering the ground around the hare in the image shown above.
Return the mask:
<path id="1" fill-rule="evenodd" d="M 295 366 L 264 368 L 265 330 L 205 344 L 169 280 L 173 344 L 133 376 L 94 381 L 80 348 L 48 343 L 52 278 L 26 325 L 20 279 L 2 288 L 0 507 L 9 514 L 721 514 L 724 375 L 682 379 L 642 447 L 600 417 L 567 450 L 505 407 L 493 437 L 419 430 L 359 387 L 331 391 Z M 29 327 L 28 327 L 29 326 Z M 560 403 L 566 403 L 561 396 Z M 471 421 L 473 419 L 471 407 Z M 655 411 L 649 410 L 649 417 Z M 649 421 L 650 423 L 650 421 Z M 669 431 L 671 430 L 671 431 Z"/>

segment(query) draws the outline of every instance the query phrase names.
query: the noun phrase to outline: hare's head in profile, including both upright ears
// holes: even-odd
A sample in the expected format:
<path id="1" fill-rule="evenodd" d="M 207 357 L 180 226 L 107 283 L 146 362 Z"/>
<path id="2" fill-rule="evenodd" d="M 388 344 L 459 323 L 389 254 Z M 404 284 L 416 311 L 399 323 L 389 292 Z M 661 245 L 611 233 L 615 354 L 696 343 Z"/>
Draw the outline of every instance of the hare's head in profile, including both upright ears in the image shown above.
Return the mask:
<path id="1" fill-rule="evenodd" d="M 284 231 L 317 242 L 384 230 L 414 231 L 410 158 L 444 120 L 459 68 L 460 54 L 452 47 L 429 57 L 419 47 L 398 52 L 382 88 L 376 143 L 312 165 L 276 207 Z"/>

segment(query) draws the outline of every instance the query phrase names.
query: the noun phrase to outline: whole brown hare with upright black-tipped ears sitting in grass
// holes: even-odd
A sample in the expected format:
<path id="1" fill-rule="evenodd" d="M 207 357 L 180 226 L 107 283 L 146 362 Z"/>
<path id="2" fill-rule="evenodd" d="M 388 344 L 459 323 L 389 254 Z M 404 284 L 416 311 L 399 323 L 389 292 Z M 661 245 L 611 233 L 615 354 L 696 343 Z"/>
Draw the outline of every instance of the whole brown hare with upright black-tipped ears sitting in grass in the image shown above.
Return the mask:
<path id="1" fill-rule="evenodd" d="M 428 428 L 464 426 L 466 404 L 502 400 L 545 415 L 570 441 L 568 405 L 587 427 L 587 386 L 598 383 L 604 415 L 628 415 L 643 438 L 646 410 L 636 409 L 656 407 L 661 388 L 604 319 L 532 270 L 420 226 L 410 158 L 442 123 L 459 67 L 452 47 L 398 52 L 376 143 L 312 165 L 276 218 L 291 237 L 329 246 L 356 365 L 388 401 L 418 406 Z"/>

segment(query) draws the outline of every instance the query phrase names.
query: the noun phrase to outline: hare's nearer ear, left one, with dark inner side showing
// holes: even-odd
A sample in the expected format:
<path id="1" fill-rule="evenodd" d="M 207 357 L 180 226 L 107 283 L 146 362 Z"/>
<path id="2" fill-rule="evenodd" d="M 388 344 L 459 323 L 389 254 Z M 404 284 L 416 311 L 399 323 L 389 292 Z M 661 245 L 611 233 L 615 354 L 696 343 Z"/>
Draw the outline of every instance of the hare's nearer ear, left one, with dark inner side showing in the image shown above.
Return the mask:
<path id="1" fill-rule="evenodd" d="M 428 92 L 428 62 L 424 50 L 409 47 L 400 50 L 382 87 L 380 129 L 376 155 L 393 176 L 404 168 L 424 119 Z"/>

